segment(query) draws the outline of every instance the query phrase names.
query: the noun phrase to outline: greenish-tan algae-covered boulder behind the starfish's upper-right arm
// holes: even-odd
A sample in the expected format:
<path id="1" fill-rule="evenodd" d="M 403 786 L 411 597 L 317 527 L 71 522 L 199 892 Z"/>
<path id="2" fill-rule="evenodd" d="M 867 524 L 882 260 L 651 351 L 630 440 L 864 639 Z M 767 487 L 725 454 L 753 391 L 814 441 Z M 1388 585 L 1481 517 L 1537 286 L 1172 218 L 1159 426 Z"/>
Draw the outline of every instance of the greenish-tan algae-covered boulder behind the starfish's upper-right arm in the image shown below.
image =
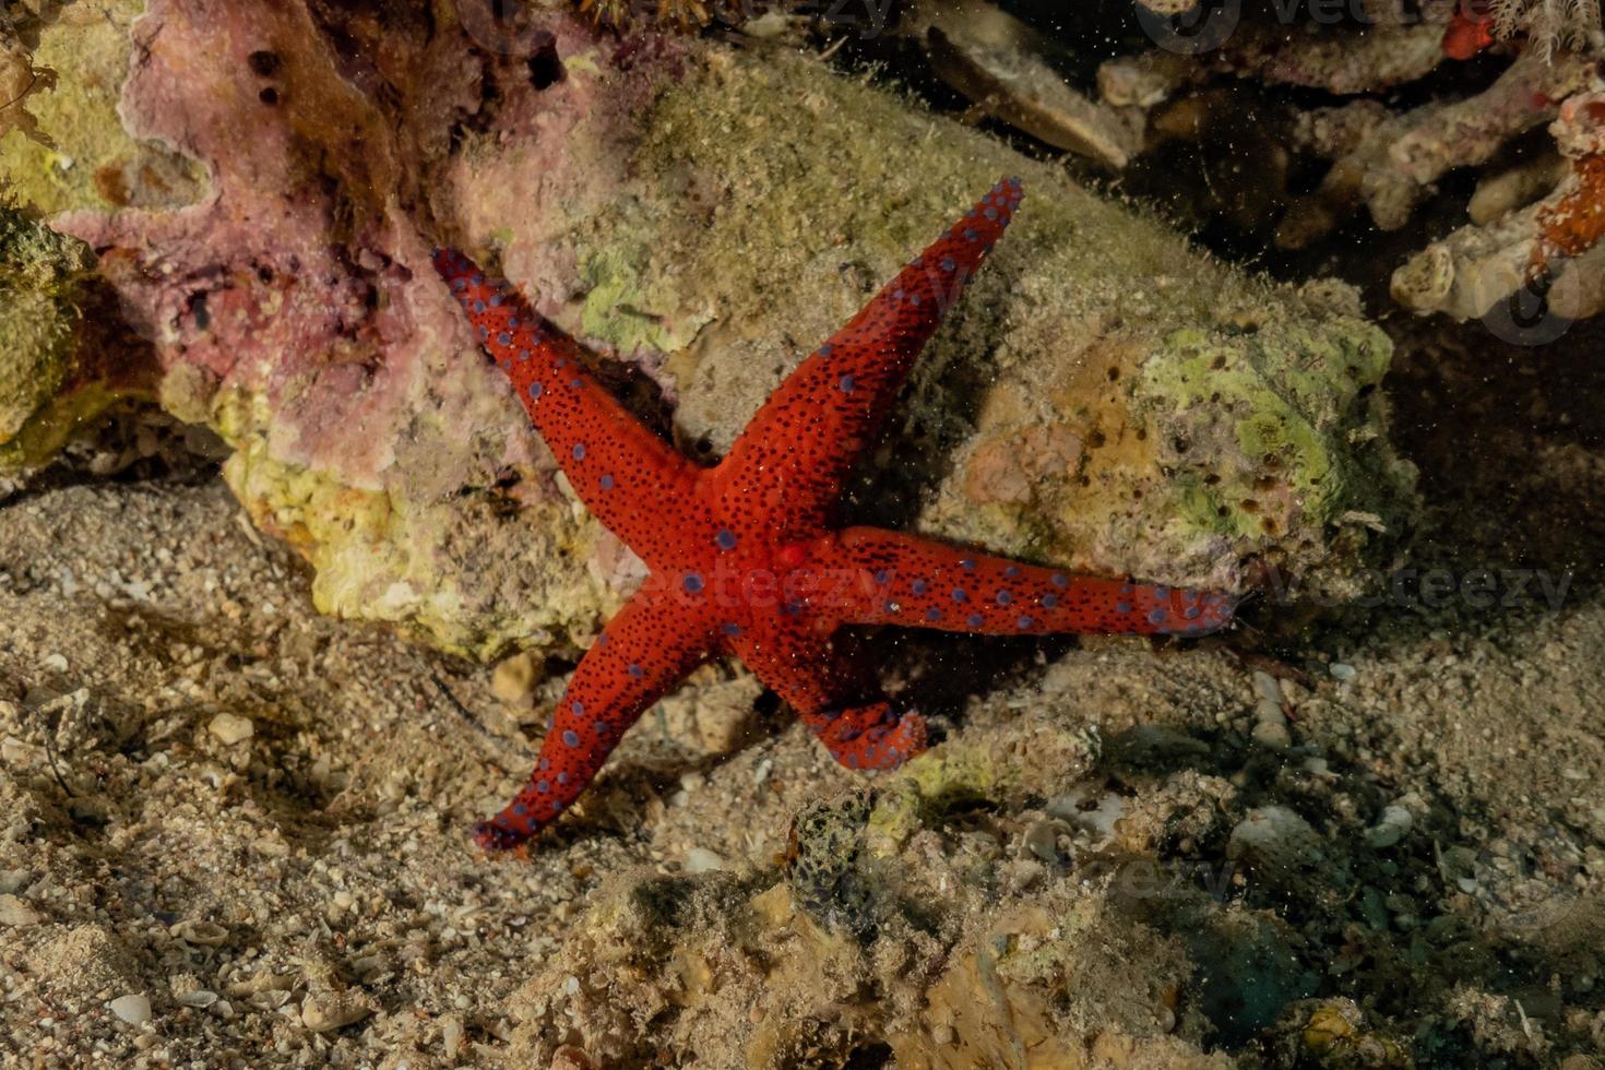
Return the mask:
<path id="1" fill-rule="evenodd" d="M 801 135 L 806 154 L 788 148 Z M 1375 398 L 1392 345 L 1342 286 L 1245 278 L 802 59 L 706 56 L 661 96 L 634 160 L 655 199 L 709 204 L 650 213 L 677 292 L 644 306 L 719 310 L 671 355 L 690 441 L 725 448 L 947 205 L 1019 170 L 1026 209 L 915 371 L 905 440 L 928 449 L 881 459 L 883 484 L 936 483 L 921 531 L 1237 590 L 1273 566 L 1347 597 L 1409 521 L 1412 472 Z M 626 215 L 599 220 L 587 237 L 629 241 Z"/>

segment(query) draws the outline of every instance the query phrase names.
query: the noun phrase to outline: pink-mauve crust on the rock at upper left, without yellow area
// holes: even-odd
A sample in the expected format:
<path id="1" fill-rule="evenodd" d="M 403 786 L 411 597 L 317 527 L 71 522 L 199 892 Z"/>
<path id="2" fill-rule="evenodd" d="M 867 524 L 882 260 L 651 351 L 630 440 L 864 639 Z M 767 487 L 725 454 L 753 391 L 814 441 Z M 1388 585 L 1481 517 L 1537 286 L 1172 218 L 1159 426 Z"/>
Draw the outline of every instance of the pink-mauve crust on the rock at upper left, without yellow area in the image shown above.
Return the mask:
<path id="1" fill-rule="evenodd" d="M 554 37 L 565 26 L 552 19 Z M 319 45 L 299 5 L 152 3 L 124 109 L 136 133 L 204 160 L 212 196 L 181 212 L 72 212 L 56 225 L 100 250 L 164 366 L 202 372 L 212 396 L 266 395 L 282 459 L 379 488 L 395 462 L 390 428 L 411 417 L 453 329 L 404 266 L 429 250 L 408 141 L 443 148 L 480 87 L 461 77 L 473 71 L 461 42 L 421 48 L 414 69 L 390 72 L 417 95 L 398 130 Z"/>

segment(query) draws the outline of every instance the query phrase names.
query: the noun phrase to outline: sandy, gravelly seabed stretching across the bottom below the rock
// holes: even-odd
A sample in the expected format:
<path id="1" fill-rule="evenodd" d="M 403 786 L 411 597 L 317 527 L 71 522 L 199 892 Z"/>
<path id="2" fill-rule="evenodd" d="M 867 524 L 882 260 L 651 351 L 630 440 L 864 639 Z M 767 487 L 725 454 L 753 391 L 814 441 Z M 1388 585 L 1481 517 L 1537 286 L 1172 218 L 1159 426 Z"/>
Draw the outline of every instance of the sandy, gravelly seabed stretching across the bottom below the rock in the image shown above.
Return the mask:
<path id="1" fill-rule="evenodd" d="M 0 1062 L 1600 1065 L 1600 385 L 1414 351 L 1390 380 L 1428 505 L 1403 597 L 1282 642 L 1274 602 L 1191 646 L 881 635 L 947 730 L 937 768 L 990 748 L 1027 772 L 920 812 L 863 887 L 798 852 L 820 805 L 899 781 L 833 765 L 730 667 L 528 858 L 488 860 L 467 826 L 565 666 L 507 703 L 486 667 L 318 616 L 217 480 L 43 480 L 0 507 Z M 1432 569 L 1496 597 L 1420 605 Z M 1196 910 L 1156 908 L 1152 873 Z M 631 914 L 669 886 L 697 910 Z M 709 934 L 774 940 L 748 910 L 774 889 L 788 938 L 857 963 L 812 1009 L 774 959 L 711 956 L 717 995 L 684 969 Z M 955 964 L 1034 908 L 1096 921 L 998 945 L 1069 946 L 966 995 Z M 632 926 L 658 943 L 620 966 L 603 937 Z M 1034 985 L 1051 1044 L 955 1011 Z"/>

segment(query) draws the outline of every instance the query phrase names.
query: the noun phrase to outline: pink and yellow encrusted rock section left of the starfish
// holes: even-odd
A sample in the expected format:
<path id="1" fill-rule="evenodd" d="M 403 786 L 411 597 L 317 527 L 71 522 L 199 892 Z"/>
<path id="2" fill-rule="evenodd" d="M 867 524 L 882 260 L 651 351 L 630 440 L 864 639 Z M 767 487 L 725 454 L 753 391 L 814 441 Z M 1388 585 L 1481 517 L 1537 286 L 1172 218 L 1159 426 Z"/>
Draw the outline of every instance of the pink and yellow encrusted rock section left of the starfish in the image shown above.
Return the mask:
<path id="1" fill-rule="evenodd" d="M 581 164 L 563 148 L 578 124 L 600 144 L 628 130 L 674 45 L 599 43 L 565 13 L 531 14 L 517 40 L 473 19 L 435 34 L 414 13 L 342 51 L 366 24 L 318 19 L 305 5 L 154 0 L 135 26 L 120 111 L 135 135 L 204 162 L 209 196 L 53 223 L 100 253 L 124 314 L 156 343 L 164 403 L 236 448 L 225 473 L 257 523 L 313 560 L 324 610 L 408 622 L 482 656 L 586 630 L 634 566 L 570 515 L 555 465 L 486 388 L 488 372 L 438 374 L 461 327 L 433 274 L 417 274 L 430 249 L 421 228 L 438 212 L 456 239 L 480 242 L 494 226 L 472 186 L 477 167 L 498 164 L 451 154 L 464 125 L 494 122 L 518 149 L 501 188 L 552 225 L 518 263 L 557 314 L 575 289 L 562 220 L 605 199 L 618 180 L 605 168 L 626 159 Z M 639 77 L 615 87 L 557 67 L 536 79 L 526 55 L 504 48 L 603 69 L 626 53 Z M 552 541 L 603 561 L 603 582 L 520 568 L 515 544 L 502 545 L 502 505 L 454 504 L 498 483 Z M 485 561 L 465 560 L 480 552 Z"/>

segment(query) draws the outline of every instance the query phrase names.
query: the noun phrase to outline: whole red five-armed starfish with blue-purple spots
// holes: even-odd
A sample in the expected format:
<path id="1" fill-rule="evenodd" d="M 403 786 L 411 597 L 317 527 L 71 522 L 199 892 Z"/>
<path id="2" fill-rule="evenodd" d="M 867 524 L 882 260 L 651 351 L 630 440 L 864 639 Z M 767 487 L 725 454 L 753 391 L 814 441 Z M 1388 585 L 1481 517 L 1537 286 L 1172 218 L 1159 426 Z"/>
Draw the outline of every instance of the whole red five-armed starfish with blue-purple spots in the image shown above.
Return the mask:
<path id="1" fill-rule="evenodd" d="M 733 653 L 836 760 L 891 768 L 924 749 L 838 645 L 843 624 L 957 632 L 1201 635 L 1226 595 L 1071 576 L 878 528 L 838 528 L 854 457 L 945 308 L 1003 234 L 1022 189 L 1000 183 L 770 395 L 713 468 L 642 427 L 586 372 L 578 345 L 461 253 L 435 266 L 518 391 L 575 492 L 650 566 L 579 661 L 512 805 L 475 828 L 515 847 L 579 796 L 642 711 Z"/>

